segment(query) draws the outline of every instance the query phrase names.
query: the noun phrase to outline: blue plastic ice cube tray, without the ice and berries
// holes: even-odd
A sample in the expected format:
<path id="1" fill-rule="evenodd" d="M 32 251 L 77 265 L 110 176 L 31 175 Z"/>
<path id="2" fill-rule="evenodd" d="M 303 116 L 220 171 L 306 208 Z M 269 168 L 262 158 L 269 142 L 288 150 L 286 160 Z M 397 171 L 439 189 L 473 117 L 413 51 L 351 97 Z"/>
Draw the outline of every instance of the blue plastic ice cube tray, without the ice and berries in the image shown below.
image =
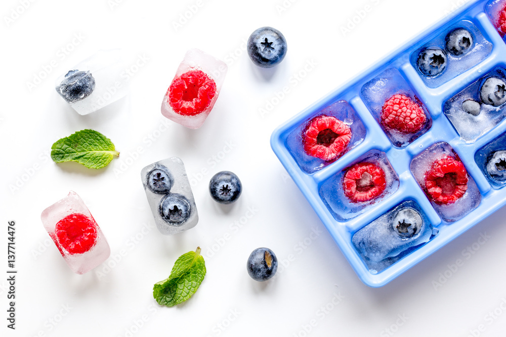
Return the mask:
<path id="1" fill-rule="evenodd" d="M 278 127 L 271 136 L 271 146 L 274 153 L 296 182 L 359 278 L 369 286 L 385 285 L 500 207 L 506 205 L 506 188 L 500 188 L 502 184 L 499 184 L 499 186 L 493 184 L 493 181 L 491 182 L 486 176 L 486 171 L 483 168 L 483 153 L 494 146 L 497 147 L 502 139 L 506 140 L 506 136 L 503 135 L 506 132 L 506 120 L 501 120 L 487 132 L 470 142 L 460 137 L 460 134 L 443 113 L 446 102 L 456 94 L 498 67 L 504 68 L 506 64 L 506 43 L 494 27 L 493 21 L 489 19 L 488 9 L 492 3 L 493 6 L 505 6 L 506 0 L 501 0 L 499 5 L 497 5 L 497 1 L 485 0 L 469 4 L 452 17 L 445 19 L 444 22 L 440 22 L 409 41 L 390 57 L 378 62 L 362 75 L 334 90 L 327 97 L 294 116 Z M 478 36 L 480 41 L 488 41 L 491 48 L 487 49 L 485 56 L 474 59 L 472 64 L 466 63 L 461 71 L 453 73 L 452 76 L 448 76 L 444 80 L 441 80 L 443 78 L 441 76 L 441 82 L 437 86 L 434 85 L 435 82 L 427 82 L 426 79 L 420 76 L 419 71 L 416 69 L 416 63 L 413 64 L 413 54 L 431 41 L 441 43 L 449 31 L 462 26 L 472 30 L 474 36 Z M 452 62 L 458 62 L 458 60 L 452 60 Z M 402 148 L 394 146 L 387 137 L 382 126 L 379 125 L 378 119 L 375 118 L 377 117 L 377 111 L 373 111 L 374 107 L 371 108 L 367 93 L 364 94 L 362 91 L 368 83 L 370 84 L 370 81 L 385 74 L 386 71 L 401 76 L 405 81 L 403 87 L 416 95 L 416 98 L 424 105 L 432 123 L 415 139 L 410 139 L 407 145 L 403 144 L 404 147 Z M 301 169 L 297 155 L 292 155 L 295 144 L 290 142 L 288 145 L 288 138 L 290 135 L 293 136 L 293 132 L 300 132 L 302 130 L 301 126 L 321 113 L 322 109 L 342 100 L 349 103 L 362 122 L 365 128 L 363 141 L 331 163 L 315 170 Z M 376 103 L 376 105 L 380 103 Z M 501 108 L 504 108 L 504 106 Z M 458 155 L 467 169 L 468 176 L 475 182 L 475 192 L 478 193 L 479 199 L 481 199 L 473 205 L 473 207 L 476 206 L 474 210 L 457 217 L 458 219 L 453 222 L 446 220 L 454 219 L 438 214 L 435 205 L 428 199 L 410 170 L 413 158 L 440 142 L 447 143 Z M 302 146 L 300 150 L 304 151 Z M 337 205 L 329 207 L 328 199 L 333 197 L 329 193 L 322 194 L 322 188 L 325 190 L 325 186 L 329 181 L 333 181 L 334 185 L 340 182 L 339 176 L 343 170 L 359 161 L 360 158 L 374 152 L 383 153 L 391 164 L 398 177 L 398 188 L 392 190 L 381 200 L 376 200 L 376 202 L 356 212 L 353 217 L 336 216 L 336 212 L 332 208 L 335 209 L 334 206 Z M 439 232 L 437 235 L 432 235 L 429 242 L 417 246 L 416 249 L 402 256 L 385 269 L 379 272 L 370 269 L 364 258 L 354 247 L 353 235 L 407 201 L 415 203 L 436 229 L 435 233 Z"/>

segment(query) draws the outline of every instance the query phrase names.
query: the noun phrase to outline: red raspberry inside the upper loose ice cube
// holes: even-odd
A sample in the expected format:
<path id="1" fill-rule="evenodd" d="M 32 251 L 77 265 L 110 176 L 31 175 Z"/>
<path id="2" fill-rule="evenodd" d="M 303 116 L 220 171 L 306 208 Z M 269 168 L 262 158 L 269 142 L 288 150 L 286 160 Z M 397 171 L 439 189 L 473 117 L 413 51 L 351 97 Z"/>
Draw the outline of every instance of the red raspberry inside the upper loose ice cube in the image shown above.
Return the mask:
<path id="1" fill-rule="evenodd" d="M 216 83 L 203 71 L 190 70 L 175 78 L 167 93 L 174 112 L 194 116 L 209 107 L 216 95 Z"/>

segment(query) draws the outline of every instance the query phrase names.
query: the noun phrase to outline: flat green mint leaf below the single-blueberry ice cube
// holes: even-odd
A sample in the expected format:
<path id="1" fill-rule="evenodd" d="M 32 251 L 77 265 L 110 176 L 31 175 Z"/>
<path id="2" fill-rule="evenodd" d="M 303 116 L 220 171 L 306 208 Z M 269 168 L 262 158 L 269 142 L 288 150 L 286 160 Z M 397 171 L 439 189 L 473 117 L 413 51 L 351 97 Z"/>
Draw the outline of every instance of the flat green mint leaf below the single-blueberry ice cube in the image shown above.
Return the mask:
<path id="1" fill-rule="evenodd" d="M 77 162 L 88 168 L 107 166 L 119 152 L 112 141 L 95 130 L 81 130 L 57 140 L 51 147 L 51 158 L 55 163 Z"/>

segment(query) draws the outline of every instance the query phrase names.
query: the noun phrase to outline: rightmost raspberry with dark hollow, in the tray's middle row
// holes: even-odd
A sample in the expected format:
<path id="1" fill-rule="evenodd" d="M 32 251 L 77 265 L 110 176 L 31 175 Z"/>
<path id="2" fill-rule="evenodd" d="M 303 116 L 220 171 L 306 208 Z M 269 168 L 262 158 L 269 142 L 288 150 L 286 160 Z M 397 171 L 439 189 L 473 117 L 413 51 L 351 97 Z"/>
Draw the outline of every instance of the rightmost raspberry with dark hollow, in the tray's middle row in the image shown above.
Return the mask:
<path id="1" fill-rule="evenodd" d="M 436 204 L 453 204 L 468 189 L 468 172 L 458 157 L 443 157 L 427 171 L 425 187 Z"/>

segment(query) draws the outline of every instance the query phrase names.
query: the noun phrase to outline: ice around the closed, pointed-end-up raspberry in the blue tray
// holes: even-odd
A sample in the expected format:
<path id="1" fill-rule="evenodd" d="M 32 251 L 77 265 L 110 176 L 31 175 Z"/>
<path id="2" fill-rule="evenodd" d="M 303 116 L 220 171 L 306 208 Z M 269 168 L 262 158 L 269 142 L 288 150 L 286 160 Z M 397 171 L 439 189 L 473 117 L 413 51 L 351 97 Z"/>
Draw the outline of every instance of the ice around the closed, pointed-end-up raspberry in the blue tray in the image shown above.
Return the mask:
<path id="1" fill-rule="evenodd" d="M 392 144 L 398 148 L 409 145 L 419 136 L 423 135 L 432 126 L 432 118 L 427 108 L 417 98 L 409 83 L 402 77 L 401 73 L 395 69 L 387 69 L 377 77 L 365 83 L 361 89 L 361 97 L 365 105 L 369 108 L 376 122 L 382 127 Z M 415 133 L 402 133 L 396 129 L 389 128 L 381 122 L 381 114 L 385 102 L 395 94 L 404 94 L 413 102 L 417 103 L 425 112 L 427 120 L 423 128 Z"/>

